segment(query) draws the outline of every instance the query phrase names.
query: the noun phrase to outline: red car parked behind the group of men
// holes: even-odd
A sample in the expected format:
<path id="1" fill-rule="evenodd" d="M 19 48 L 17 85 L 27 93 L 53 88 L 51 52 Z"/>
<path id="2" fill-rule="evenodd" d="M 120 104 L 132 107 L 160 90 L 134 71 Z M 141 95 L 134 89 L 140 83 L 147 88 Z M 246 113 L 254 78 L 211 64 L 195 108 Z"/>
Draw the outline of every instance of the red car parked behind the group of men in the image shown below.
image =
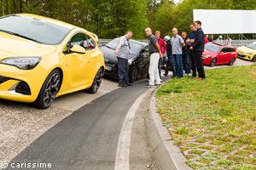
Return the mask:
<path id="1" fill-rule="evenodd" d="M 233 65 L 236 61 L 236 48 L 225 46 L 218 42 L 208 42 L 205 44 L 205 51 L 202 54 L 204 65 Z"/>

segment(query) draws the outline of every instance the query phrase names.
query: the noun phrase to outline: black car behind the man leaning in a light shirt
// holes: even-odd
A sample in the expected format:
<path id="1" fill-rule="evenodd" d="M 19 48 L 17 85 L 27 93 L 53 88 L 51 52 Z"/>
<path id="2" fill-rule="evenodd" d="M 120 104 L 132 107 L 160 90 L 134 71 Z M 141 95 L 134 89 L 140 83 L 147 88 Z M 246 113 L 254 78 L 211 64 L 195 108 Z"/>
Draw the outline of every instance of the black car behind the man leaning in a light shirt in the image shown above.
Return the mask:
<path id="1" fill-rule="evenodd" d="M 118 78 L 118 60 L 114 50 L 118 47 L 119 38 L 113 39 L 101 47 L 105 59 L 105 77 Z M 148 45 L 136 40 L 130 40 L 131 54 L 128 56 L 129 79 L 135 82 L 137 77 L 148 75 L 149 53 Z"/>

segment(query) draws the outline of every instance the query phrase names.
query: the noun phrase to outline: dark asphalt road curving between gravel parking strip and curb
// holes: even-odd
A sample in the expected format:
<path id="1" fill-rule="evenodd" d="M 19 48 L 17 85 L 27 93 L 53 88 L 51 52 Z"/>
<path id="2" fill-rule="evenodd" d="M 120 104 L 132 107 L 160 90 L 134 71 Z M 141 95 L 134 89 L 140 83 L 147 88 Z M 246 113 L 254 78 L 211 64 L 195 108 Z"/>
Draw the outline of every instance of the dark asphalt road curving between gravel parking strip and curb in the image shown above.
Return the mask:
<path id="1" fill-rule="evenodd" d="M 138 82 L 133 87 L 116 89 L 84 105 L 55 127 L 50 128 L 11 163 L 50 163 L 52 167 L 49 169 L 55 170 L 113 170 L 119 133 L 125 116 L 134 101 L 148 89 L 143 87 L 145 83 Z M 142 119 L 137 123 L 143 124 Z M 134 126 L 138 125 L 135 123 Z M 134 135 L 139 137 L 143 133 L 132 134 Z M 133 143 L 137 142 L 133 141 Z M 144 141 L 144 147 L 147 147 L 146 143 L 147 141 Z M 147 148 L 138 148 L 135 145 L 131 145 L 131 148 L 133 148 L 131 153 L 137 153 L 136 156 L 140 155 L 140 152 L 144 153 L 144 156 L 150 155 Z M 141 160 L 143 166 L 146 163 L 152 164 L 149 162 L 150 157 Z M 142 165 L 134 166 L 137 169 L 137 166 Z"/>

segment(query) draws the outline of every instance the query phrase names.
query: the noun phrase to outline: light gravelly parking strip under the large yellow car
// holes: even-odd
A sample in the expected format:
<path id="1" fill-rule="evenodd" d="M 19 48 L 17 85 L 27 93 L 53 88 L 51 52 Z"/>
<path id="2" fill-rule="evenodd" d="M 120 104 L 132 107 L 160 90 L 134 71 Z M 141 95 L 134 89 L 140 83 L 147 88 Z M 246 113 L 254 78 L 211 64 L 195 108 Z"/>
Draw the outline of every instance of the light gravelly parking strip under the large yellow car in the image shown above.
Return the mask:
<path id="1" fill-rule="evenodd" d="M 61 96 L 55 99 L 47 110 L 0 100 L 0 162 L 10 161 L 27 145 L 73 111 L 116 88 L 118 88 L 117 82 L 103 79 L 98 93 L 77 92 Z"/>

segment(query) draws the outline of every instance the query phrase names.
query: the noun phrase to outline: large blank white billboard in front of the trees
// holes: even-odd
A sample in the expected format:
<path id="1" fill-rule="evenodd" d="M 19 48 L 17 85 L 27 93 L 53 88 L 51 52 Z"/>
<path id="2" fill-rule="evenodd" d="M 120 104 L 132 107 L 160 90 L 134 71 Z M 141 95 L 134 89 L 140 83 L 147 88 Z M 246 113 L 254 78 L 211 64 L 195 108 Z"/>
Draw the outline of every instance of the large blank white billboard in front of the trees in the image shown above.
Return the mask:
<path id="1" fill-rule="evenodd" d="M 256 10 L 194 9 L 205 34 L 256 33 Z"/>

